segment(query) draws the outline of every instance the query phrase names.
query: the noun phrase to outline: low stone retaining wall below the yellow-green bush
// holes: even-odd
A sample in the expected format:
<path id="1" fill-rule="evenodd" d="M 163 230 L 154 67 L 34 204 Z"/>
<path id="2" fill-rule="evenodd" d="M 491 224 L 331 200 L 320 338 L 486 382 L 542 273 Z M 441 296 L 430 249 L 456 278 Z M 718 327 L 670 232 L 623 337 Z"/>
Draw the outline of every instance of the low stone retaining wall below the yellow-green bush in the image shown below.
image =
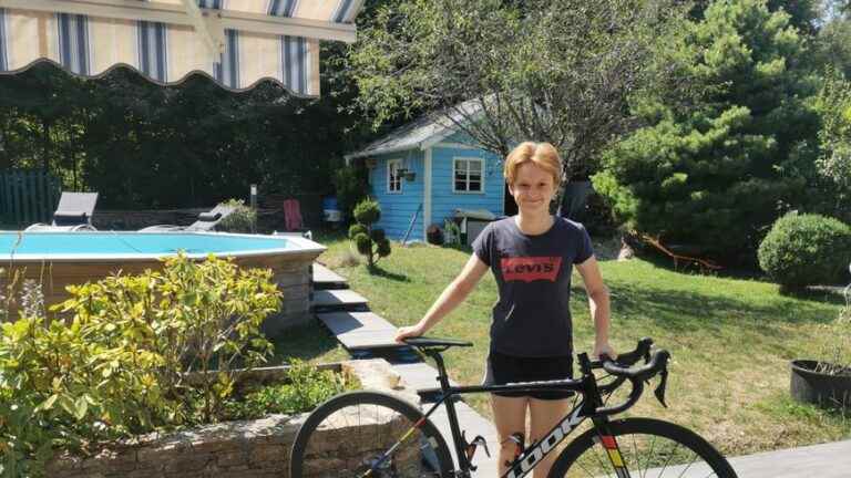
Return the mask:
<path id="1" fill-rule="evenodd" d="M 416 391 L 401 383 L 383 360 L 350 361 L 340 365 L 366 388 L 383 389 L 412 401 Z M 285 368 L 253 372 L 268 378 Z M 414 402 L 417 403 L 417 402 Z M 150 435 L 135 444 L 102 450 L 92 458 L 62 456 L 48 467 L 55 478 L 288 478 L 289 449 L 307 414 L 269 415 L 250 422 L 230 422 L 170 435 Z M 392 423 L 380 426 L 392 427 Z M 375 426 L 375 424 L 373 424 Z M 350 428 L 350 426 L 349 426 Z M 357 433 L 345 426 L 328 430 L 328 467 L 345 457 L 347 437 Z M 337 458 L 334 458 L 337 457 Z M 329 468 L 335 469 L 335 468 Z"/>

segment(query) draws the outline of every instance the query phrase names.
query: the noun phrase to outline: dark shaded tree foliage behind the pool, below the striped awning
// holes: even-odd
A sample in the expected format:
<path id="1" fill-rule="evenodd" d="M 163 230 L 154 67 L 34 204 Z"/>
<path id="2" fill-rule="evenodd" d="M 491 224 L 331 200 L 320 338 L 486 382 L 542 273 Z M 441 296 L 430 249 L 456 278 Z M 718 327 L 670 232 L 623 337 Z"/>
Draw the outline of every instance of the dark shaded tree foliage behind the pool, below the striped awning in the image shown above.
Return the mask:
<path id="1" fill-rule="evenodd" d="M 326 49 L 334 70 L 339 46 Z M 98 190 L 105 208 L 209 206 L 250 184 L 327 194 L 342 154 L 372 135 L 341 111 L 348 102 L 271 82 L 233 93 L 201 75 L 161 86 L 126 69 L 82 80 L 42 63 L 0 76 L 0 167 L 52 172 L 66 189 Z"/>

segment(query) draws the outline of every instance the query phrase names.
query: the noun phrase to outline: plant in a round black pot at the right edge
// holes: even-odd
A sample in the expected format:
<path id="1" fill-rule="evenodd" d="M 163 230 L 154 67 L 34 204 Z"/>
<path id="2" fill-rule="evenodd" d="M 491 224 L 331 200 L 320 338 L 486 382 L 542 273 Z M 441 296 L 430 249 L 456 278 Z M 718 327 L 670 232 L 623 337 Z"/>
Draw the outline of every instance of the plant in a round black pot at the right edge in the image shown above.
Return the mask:
<path id="1" fill-rule="evenodd" d="M 792 398 L 826 408 L 851 409 L 851 284 L 845 288 L 845 306 L 829 325 L 831 333 L 821 360 L 791 363 Z"/>

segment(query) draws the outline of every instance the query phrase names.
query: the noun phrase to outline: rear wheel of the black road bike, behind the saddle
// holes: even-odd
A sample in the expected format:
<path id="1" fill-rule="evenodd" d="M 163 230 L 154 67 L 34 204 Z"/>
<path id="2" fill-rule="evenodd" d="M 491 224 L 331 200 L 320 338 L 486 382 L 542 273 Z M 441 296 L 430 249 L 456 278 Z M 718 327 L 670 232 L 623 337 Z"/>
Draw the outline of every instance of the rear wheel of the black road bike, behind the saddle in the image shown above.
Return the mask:
<path id="1" fill-rule="evenodd" d="M 449 478 L 453 465 L 445 440 L 417 407 L 379 392 L 351 392 L 305 420 L 289 470 L 290 478 Z"/>

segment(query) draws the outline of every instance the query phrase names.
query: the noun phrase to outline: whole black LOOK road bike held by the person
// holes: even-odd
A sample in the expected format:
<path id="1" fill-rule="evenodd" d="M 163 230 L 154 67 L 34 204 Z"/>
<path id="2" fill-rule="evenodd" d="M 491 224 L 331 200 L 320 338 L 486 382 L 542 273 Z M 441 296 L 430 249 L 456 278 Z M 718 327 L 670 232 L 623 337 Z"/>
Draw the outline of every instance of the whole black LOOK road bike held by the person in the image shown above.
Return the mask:
<path id="1" fill-rule="evenodd" d="M 635 405 L 645 383 L 659 377 L 654 394 L 665 404 L 669 353 L 653 350 L 650 339 L 636 349 L 592 361 L 577 355 L 582 376 L 577 380 L 525 382 L 506 385 L 453 386 L 449 382 L 442 352 L 469 347 L 470 342 L 413 337 L 404 341 L 434 360 L 440 394 L 424 414 L 418 406 L 380 392 L 350 392 L 317 407 L 300 427 L 290 454 L 290 478 L 469 478 L 476 469 L 474 457 L 481 436 L 468 440 L 461 430 L 455 399 L 464 394 L 519 391 L 571 391 L 573 407 L 546 435 L 526 445 L 522 434 L 511 439 L 516 454 L 506 464 L 502 478 L 521 478 L 532 472 L 552 453 L 557 457 L 550 477 L 613 478 L 736 478 L 727 459 L 708 441 L 688 428 L 653 418 L 612 418 Z M 638 364 L 643 362 L 642 364 Z M 638 365 L 636 365 L 638 364 Z M 594 371 L 604 373 L 596 376 Z M 609 405 L 618 388 L 629 383 Z M 458 464 L 447 440 L 429 417 L 445 407 L 450 438 Z M 583 423 L 589 427 L 566 446 L 560 445 Z"/>

